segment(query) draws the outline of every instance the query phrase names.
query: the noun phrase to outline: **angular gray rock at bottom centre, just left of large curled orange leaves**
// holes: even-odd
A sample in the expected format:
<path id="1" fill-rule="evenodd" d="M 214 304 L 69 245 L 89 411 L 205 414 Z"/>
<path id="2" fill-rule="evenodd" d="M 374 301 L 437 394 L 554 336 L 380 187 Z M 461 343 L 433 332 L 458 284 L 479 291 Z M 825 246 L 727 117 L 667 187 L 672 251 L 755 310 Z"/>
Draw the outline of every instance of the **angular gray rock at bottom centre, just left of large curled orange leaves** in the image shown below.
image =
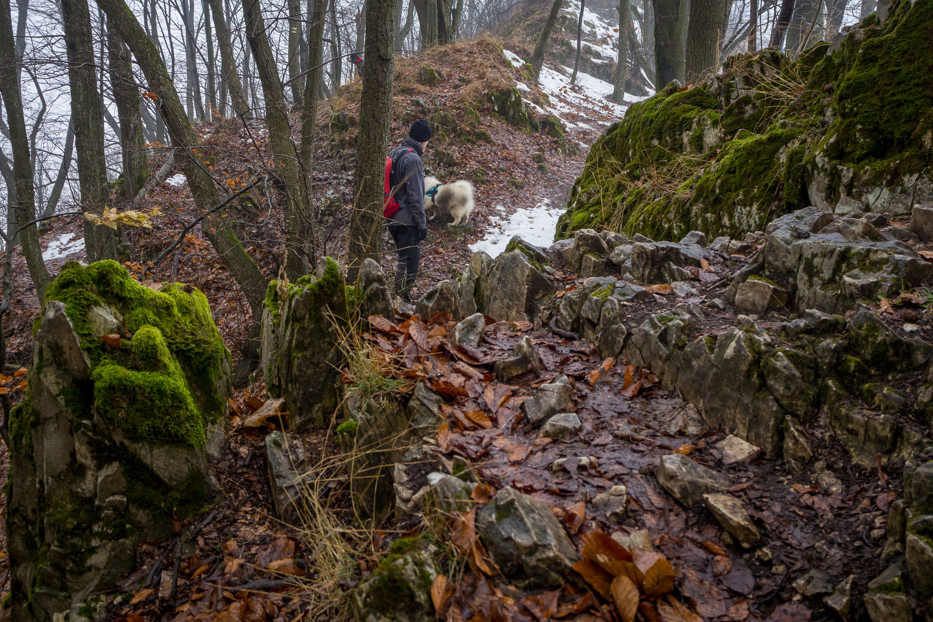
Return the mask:
<path id="1" fill-rule="evenodd" d="M 476 528 L 502 573 L 525 587 L 561 587 L 574 576 L 577 549 L 542 501 L 502 489 L 477 513 Z"/>

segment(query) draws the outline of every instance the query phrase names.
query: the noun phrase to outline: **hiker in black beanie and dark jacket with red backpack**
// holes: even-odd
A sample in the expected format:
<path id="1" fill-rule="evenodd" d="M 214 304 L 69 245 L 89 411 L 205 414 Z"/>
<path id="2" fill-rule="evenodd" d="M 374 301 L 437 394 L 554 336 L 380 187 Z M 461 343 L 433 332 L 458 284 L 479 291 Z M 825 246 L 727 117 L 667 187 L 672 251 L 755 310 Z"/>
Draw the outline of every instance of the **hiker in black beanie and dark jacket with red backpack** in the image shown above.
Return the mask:
<path id="1" fill-rule="evenodd" d="M 411 124 L 408 138 L 394 148 L 390 184 L 397 187 L 395 199 L 398 211 L 387 216 L 389 234 L 398 249 L 396 294 L 410 299 L 411 285 L 418 275 L 421 260 L 421 242 L 427 237 L 425 217 L 425 166 L 421 161 L 431 127 L 423 118 Z"/>

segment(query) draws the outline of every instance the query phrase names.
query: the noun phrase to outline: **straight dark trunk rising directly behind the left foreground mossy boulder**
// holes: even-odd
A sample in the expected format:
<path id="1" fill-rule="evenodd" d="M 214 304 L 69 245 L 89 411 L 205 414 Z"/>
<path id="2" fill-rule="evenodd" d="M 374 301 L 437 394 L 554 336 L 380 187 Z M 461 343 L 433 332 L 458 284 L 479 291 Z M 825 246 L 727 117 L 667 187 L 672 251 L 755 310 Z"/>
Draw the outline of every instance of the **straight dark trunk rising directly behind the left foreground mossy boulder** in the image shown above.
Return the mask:
<path id="1" fill-rule="evenodd" d="M 110 185 L 104 158 L 104 115 L 94 74 L 91 11 L 87 0 L 62 0 L 61 6 L 81 209 L 102 212 L 110 200 Z M 117 242 L 118 235 L 113 229 L 84 221 L 84 246 L 91 261 L 116 259 Z"/>

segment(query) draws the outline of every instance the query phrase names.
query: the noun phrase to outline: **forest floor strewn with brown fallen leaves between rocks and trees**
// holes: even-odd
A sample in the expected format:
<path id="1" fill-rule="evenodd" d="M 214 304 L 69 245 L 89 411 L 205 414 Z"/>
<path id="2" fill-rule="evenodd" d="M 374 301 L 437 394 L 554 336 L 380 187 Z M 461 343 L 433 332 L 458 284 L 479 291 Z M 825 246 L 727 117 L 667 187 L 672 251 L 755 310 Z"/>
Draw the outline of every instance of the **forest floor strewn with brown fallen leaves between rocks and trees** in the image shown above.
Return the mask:
<path id="1" fill-rule="evenodd" d="M 513 43 L 506 45 L 513 56 L 530 56 L 521 41 Z M 518 71 L 504 61 L 500 50 L 482 40 L 400 61 L 390 144 L 400 142 L 412 111 L 422 105 L 415 106 L 414 100 L 420 100 L 427 110 L 460 113 L 477 92 L 503 81 L 509 85 L 520 82 Z M 445 88 L 418 83 L 415 76 L 425 64 L 445 76 Z M 486 183 L 476 185 L 477 208 L 467 228 L 429 225 L 415 296 L 463 270 L 472 254 L 471 245 L 495 234 L 508 239 L 509 227 L 527 230 L 509 222 L 513 214 L 532 214 L 537 206 L 547 211 L 564 205 L 573 180 L 582 170 L 586 145 L 592 145 L 614 117 L 605 101 L 599 104 L 591 98 L 595 105 L 588 106 L 579 92 L 565 92 L 565 100 L 555 102 L 558 95 L 553 93 L 560 90 L 558 85 L 551 91 L 550 103 L 559 108 L 567 126 L 566 142 L 578 150 L 558 153 L 557 144 L 547 135 L 509 126 L 492 117 L 488 108 L 479 111 L 479 127 L 488 132 L 491 142 L 470 143 L 454 137 L 428 146 L 425 162 L 432 168 L 441 166 L 434 155 L 442 149 L 449 154 L 443 165 L 445 173 L 455 170 L 453 176 L 473 179 L 482 169 Z M 338 260 L 343 256 L 353 206 L 355 131 L 353 125 L 344 131 L 331 130 L 327 119 L 332 114 L 354 117 L 359 92 L 357 79 L 335 99 L 321 104 L 318 113 L 321 122 L 315 144 L 314 196 L 318 205 L 327 205 L 318 247 L 322 255 Z M 531 91 L 528 96 L 537 99 Z M 197 131 L 204 157 L 212 161 L 218 179 L 240 184 L 250 171 L 261 169 L 266 143 L 260 122 L 224 120 L 199 126 Z M 258 145 L 258 150 L 253 145 Z M 541 147 L 547 171 L 532 159 Z M 155 162 L 153 168 L 157 166 Z M 512 179 L 520 184 L 510 182 Z M 193 230 L 186 238 L 174 257 L 176 261 L 169 258 L 155 266 L 148 263 L 174 242 L 184 223 L 196 215 L 187 185 L 174 185 L 177 182 L 172 178 L 170 182 L 160 185 L 138 206 L 158 206 L 164 215 L 155 218 L 152 229 L 128 232 L 134 251 L 127 265 L 141 280 L 177 280 L 200 288 L 211 303 L 227 346 L 235 357 L 240 356 L 248 339 L 248 305 L 200 230 Z M 248 253 L 272 279 L 282 256 L 281 214 L 270 209 L 271 203 L 260 193 L 252 197 L 254 203 L 237 214 L 244 223 L 239 226 L 240 233 Z M 60 219 L 43 233 L 53 275 L 64 261 L 85 258 L 83 247 L 75 243 L 82 235 L 81 227 L 79 218 Z M 391 242 L 385 237 L 383 269 L 391 272 L 393 264 Z M 4 317 L 7 373 L 30 365 L 31 327 L 39 312 L 35 288 L 29 283 L 21 256 L 14 258 L 13 266 L 13 296 Z M 731 268 L 718 266 L 717 270 L 724 273 Z M 558 278 L 564 279 L 564 291 L 576 285 L 574 275 Z M 715 292 L 711 285 L 708 288 L 711 291 L 705 291 L 705 284 L 698 285 L 695 296 L 712 296 Z M 650 305 L 638 306 L 632 309 L 632 319 L 657 311 Z M 709 327 L 729 326 L 734 320 L 729 313 L 718 313 L 710 317 Z M 384 326 L 381 339 L 390 348 L 406 341 L 417 343 L 418 334 L 432 335 L 440 343 L 450 327 L 443 318 L 407 320 Z M 508 383 L 496 382 L 492 361 L 512 352 L 524 336 L 535 343 L 544 368 Z M 859 574 L 859 580 L 864 581 L 880 569 L 881 560 L 871 550 L 877 543 L 870 542 L 866 533 L 872 521 L 898 497 L 899 481 L 854 469 L 832 444 L 818 450 L 841 477 L 843 488 L 838 494 L 824 496 L 810 471 L 792 475 L 782 463 L 763 459 L 740 466 L 721 465 L 715 443 L 723 435 L 705 428 L 695 408 L 676 394 L 661 390 L 648 370 L 627 366 L 624 361 L 603 360 L 589 341 L 559 338 L 527 324 L 499 323 L 486 333 L 478 359 L 453 360 L 444 352 L 443 348 L 421 348 L 414 353 L 419 360 L 431 361 L 436 370 L 429 379 L 433 386 L 447 388 L 447 414 L 452 421 L 439 435 L 437 450 L 426 454 L 418 477 L 430 470 L 449 471 L 450 456 L 458 453 L 469 458 L 480 479 L 494 484 L 493 488 L 511 486 L 548 503 L 581 548 L 598 540 L 593 533 L 616 532 L 620 540 L 632 544 L 639 568 L 647 570 L 659 559 L 668 560 L 677 572 L 680 598 L 669 596 L 659 601 L 656 619 L 823 619 L 825 610 L 806 606 L 791 587 L 792 581 L 814 563 L 813 551 L 819 552 L 819 567 L 830 574 L 845 570 Z M 531 426 L 516 415 L 536 386 L 559 374 L 574 382 L 582 430 L 569 442 L 536 439 Z M 21 391 L 14 391 L 14 396 L 21 397 Z M 274 418 L 249 422 L 249 415 L 265 399 L 262 380 L 237 387 L 230 405 L 227 449 L 216 464 L 221 492 L 217 504 L 206 517 L 177 523 L 174 537 L 139 546 L 137 570 L 120 581 L 112 619 L 346 619 L 341 595 L 375 568 L 393 540 L 418 532 L 438 532 L 433 523 L 411 519 L 363 529 L 349 509 L 348 494 L 343 490 L 346 476 L 329 430 L 301 435 L 313 463 L 321 465 L 315 470 L 324 474 L 317 482 L 318 494 L 308 500 L 316 518 L 301 528 L 280 522 L 274 516 L 263 442 L 280 422 Z M 480 422 L 466 415 L 479 411 L 485 413 Z M 731 493 L 751 508 L 763 532 L 759 547 L 745 551 L 734 546 L 707 512 L 685 509 L 660 489 L 653 468 L 661 455 L 672 452 L 687 454 L 731 477 Z M 595 462 L 589 461 L 590 457 Z M 554 467 L 559 459 L 566 459 L 563 468 Z M 0 447 L 0 480 L 5 479 L 7 468 L 7 449 Z M 590 504 L 598 492 L 618 481 L 625 482 L 629 496 L 628 518 L 620 525 L 610 523 Z M 481 499 L 491 492 L 479 488 L 476 494 Z M 5 504 L 6 497 L 0 495 L 0 514 Z M 330 521 L 321 518 L 324 516 Z M 473 519 L 469 513 L 457 518 L 458 529 L 469 532 Z M 647 543 L 643 537 L 646 530 Z M 175 546 L 183 537 L 190 543 L 175 559 Z M 589 591 L 568 584 L 559 590 L 527 591 L 499 580 L 494 569 L 491 575 L 483 569 L 481 560 L 467 559 L 475 555 L 474 544 L 475 539 L 454 538 L 453 548 L 460 551 L 454 557 L 461 569 L 468 570 L 449 587 L 444 601 L 446 619 L 458 619 L 459 613 L 453 612 L 460 609 L 472 611 L 479 616 L 476 619 L 491 620 L 618 619 L 617 612 L 600 600 L 606 594 L 598 588 Z M 859 560 L 858 568 L 851 567 L 855 559 Z M 6 532 L 0 528 L 0 596 L 8 589 L 7 564 Z M 0 612 L 0 620 L 3 617 Z"/>

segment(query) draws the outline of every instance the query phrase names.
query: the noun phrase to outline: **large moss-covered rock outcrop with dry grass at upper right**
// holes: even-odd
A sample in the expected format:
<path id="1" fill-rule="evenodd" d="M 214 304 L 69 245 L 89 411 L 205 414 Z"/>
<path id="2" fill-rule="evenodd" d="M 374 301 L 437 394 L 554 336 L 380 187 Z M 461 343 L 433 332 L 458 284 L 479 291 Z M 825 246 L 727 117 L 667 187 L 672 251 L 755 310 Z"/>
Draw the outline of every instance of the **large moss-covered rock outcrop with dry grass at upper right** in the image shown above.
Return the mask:
<path id="1" fill-rule="evenodd" d="M 557 235 L 737 237 L 807 205 L 908 214 L 933 200 L 933 8 L 896 0 L 794 62 L 772 49 L 672 83 L 592 146 Z"/>

